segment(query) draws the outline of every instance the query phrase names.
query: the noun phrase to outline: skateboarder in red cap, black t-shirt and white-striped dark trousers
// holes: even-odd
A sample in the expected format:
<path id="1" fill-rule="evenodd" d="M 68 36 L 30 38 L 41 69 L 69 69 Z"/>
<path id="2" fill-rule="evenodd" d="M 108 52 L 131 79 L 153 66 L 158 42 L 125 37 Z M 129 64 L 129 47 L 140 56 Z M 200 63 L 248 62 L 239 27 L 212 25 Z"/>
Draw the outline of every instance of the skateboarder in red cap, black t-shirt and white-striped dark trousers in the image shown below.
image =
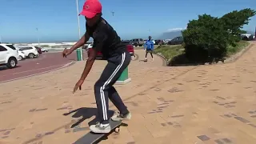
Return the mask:
<path id="1" fill-rule="evenodd" d="M 106 58 L 106 67 L 94 85 L 94 94 L 100 122 L 90 126 L 90 130 L 94 133 L 109 133 L 111 128 L 108 116 L 108 98 L 110 98 L 110 101 L 114 103 L 114 106 L 120 112 L 120 114 L 114 115 L 112 120 L 121 121 L 125 118 L 131 118 L 129 110 L 127 110 L 127 107 L 113 86 L 122 74 L 122 71 L 130 64 L 130 54 L 113 27 L 102 18 L 102 4 L 98 0 L 86 0 L 81 15 L 86 18 L 86 33 L 70 50 L 63 50 L 62 54 L 66 57 L 86 43 L 90 37 L 94 38 L 94 46 L 88 50 L 86 66 L 81 78 L 74 86 L 73 93 L 82 86 L 94 64 L 97 52 L 101 51 L 103 57 Z"/>

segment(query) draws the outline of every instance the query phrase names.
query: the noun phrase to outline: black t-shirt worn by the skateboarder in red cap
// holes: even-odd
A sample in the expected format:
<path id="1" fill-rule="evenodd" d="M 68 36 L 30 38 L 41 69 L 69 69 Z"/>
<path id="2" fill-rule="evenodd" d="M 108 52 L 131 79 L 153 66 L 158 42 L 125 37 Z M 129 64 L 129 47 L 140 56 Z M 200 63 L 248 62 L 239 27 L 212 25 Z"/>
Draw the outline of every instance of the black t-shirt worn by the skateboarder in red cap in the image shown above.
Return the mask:
<path id="1" fill-rule="evenodd" d="M 117 32 L 105 19 L 101 18 L 95 26 L 86 24 L 86 32 L 94 38 L 93 49 L 101 51 L 104 58 L 110 58 L 126 51 Z"/>

